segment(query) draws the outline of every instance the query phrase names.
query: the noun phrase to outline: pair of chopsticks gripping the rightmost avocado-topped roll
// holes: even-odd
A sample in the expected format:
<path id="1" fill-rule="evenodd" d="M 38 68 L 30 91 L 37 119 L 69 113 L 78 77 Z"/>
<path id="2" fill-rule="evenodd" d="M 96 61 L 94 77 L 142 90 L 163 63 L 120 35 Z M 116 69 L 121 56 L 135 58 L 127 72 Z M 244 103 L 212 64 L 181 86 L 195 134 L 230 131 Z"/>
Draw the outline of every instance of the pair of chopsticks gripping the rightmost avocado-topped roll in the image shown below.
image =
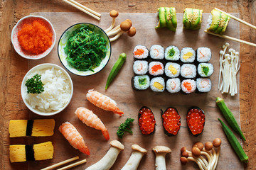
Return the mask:
<path id="1" fill-rule="evenodd" d="M 247 22 L 245 22 L 245 21 L 242 21 L 240 18 L 237 18 L 237 17 L 235 17 L 235 16 L 232 16 L 231 14 L 226 13 L 225 11 L 221 11 L 221 10 L 218 9 L 218 8 L 215 8 L 215 9 L 218 10 L 218 11 L 220 11 L 220 12 L 222 12 L 222 13 L 225 13 L 227 16 L 230 16 L 230 18 L 233 18 L 234 20 L 236 20 L 236 21 L 238 21 L 238 22 L 240 22 L 240 23 L 243 23 L 243 24 L 245 24 L 246 26 L 250 26 L 250 28 L 254 28 L 254 29 L 256 30 L 256 26 L 253 26 L 253 25 L 250 24 L 250 23 L 247 23 Z M 225 39 L 228 39 L 228 40 L 234 40 L 234 41 L 237 41 L 237 42 L 242 42 L 242 43 L 245 43 L 245 44 L 247 44 L 247 45 L 252 45 L 252 46 L 255 46 L 255 47 L 256 47 L 256 44 L 255 44 L 255 43 L 252 43 L 252 42 L 247 42 L 247 41 L 245 41 L 245 40 L 240 40 L 240 39 L 238 39 L 238 38 L 233 38 L 233 37 L 230 37 L 230 36 L 228 36 L 228 35 L 219 35 L 219 34 L 211 33 L 211 32 L 209 32 L 209 31 L 207 31 L 207 30 L 205 30 L 205 32 L 208 33 L 208 34 L 210 34 L 210 35 L 218 36 L 218 37 L 220 37 L 220 38 L 225 38 Z"/>

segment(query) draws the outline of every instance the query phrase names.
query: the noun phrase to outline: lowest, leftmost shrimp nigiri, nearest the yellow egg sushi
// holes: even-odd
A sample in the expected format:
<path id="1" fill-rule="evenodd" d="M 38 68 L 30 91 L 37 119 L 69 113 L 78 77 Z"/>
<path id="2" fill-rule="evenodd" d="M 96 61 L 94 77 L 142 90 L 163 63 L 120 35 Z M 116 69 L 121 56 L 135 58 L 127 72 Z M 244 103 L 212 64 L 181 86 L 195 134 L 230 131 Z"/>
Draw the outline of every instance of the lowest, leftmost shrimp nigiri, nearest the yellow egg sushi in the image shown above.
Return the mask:
<path id="1" fill-rule="evenodd" d="M 82 139 L 82 136 L 76 130 L 76 128 L 69 122 L 65 122 L 60 125 L 59 128 L 62 135 L 68 140 L 71 146 L 75 149 L 79 149 L 80 152 L 90 155 L 90 151 L 87 146 L 85 146 L 85 141 Z"/>

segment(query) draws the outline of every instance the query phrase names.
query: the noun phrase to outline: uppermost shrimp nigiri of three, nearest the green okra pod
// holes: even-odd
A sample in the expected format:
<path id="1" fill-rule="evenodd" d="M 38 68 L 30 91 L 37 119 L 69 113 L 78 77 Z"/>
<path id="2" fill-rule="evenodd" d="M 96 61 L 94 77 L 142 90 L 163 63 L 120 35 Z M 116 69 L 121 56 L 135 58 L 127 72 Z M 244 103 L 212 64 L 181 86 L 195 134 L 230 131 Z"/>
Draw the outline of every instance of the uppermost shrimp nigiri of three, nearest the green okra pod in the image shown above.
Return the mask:
<path id="1" fill-rule="evenodd" d="M 117 113 L 119 115 L 124 114 L 122 111 L 119 110 L 117 107 L 117 103 L 112 100 L 110 97 L 105 96 L 104 94 L 100 94 L 97 91 L 89 90 L 86 94 L 86 98 L 95 106 L 102 108 L 105 111 L 112 111 L 113 113 Z"/>

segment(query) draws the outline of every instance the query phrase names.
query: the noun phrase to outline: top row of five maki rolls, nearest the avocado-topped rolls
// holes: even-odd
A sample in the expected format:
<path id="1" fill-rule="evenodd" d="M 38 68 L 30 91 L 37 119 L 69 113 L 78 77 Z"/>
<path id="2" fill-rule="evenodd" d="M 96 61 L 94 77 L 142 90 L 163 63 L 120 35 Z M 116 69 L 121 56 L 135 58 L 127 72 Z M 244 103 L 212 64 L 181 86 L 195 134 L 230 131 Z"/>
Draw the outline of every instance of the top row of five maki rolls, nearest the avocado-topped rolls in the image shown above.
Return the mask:
<path id="1" fill-rule="evenodd" d="M 211 58 L 211 51 L 208 47 L 198 47 L 195 51 L 191 47 L 183 47 L 180 51 L 178 47 L 171 45 L 164 47 L 161 45 L 152 45 L 150 50 L 144 45 L 137 45 L 133 51 L 135 60 L 148 60 L 149 56 L 152 60 L 166 60 L 166 61 L 179 61 L 183 63 L 192 62 L 209 62 Z"/>

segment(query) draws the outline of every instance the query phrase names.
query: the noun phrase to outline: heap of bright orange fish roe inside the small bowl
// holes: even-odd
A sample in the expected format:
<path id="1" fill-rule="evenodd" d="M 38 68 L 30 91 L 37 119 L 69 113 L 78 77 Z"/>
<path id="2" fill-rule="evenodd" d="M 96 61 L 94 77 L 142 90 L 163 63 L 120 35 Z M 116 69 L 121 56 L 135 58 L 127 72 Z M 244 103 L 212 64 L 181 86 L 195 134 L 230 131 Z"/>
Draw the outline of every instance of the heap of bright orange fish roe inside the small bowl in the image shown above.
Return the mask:
<path id="1" fill-rule="evenodd" d="M 23 50 L 38 55 L 45 52 L 52 45 L 53 33 L 41 19 L 31 24 L 25 23 L 18 31 L 18 42 Z"/>

